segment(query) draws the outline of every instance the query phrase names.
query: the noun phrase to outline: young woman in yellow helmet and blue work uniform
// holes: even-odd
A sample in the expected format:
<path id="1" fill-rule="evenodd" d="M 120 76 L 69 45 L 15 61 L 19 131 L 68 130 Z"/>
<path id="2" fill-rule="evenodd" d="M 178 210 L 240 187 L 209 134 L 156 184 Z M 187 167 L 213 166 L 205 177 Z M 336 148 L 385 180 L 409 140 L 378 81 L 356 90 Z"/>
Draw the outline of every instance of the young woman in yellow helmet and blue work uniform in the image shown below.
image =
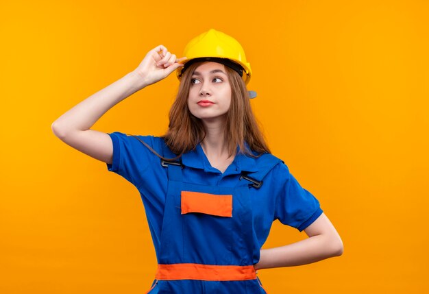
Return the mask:
<path id="1" fill-rule="evenodd" d="M 107 163 L 143 199 L 158 258 L 148 293 L 265 293 L 256 270 L 340 256 L 343 243 L 319 201 L 270 154 L 249 103 L 241 45 L 210 29 L 176 58 L 160 45 L 117 82 L 77 104 L 52 130 Z M 110 108 L 176 71 L 180 88 L 167 134 L 90 128 Z M 260 249 L 271 223 L 309 238 Z"/>

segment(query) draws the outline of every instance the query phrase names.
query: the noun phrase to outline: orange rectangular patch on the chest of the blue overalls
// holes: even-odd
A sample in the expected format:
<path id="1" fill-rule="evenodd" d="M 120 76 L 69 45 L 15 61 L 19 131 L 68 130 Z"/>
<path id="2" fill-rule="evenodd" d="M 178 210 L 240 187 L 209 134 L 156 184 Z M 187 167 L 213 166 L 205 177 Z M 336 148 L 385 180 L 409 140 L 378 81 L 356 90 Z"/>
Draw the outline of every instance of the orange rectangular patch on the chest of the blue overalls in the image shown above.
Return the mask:
<path id="1" fill-rule="evenodd" d="M 232 217 L 232 195 L 182 191 L 181 204 L 182 215 L 189 212 L 201 212 L 206 215 Z"/>

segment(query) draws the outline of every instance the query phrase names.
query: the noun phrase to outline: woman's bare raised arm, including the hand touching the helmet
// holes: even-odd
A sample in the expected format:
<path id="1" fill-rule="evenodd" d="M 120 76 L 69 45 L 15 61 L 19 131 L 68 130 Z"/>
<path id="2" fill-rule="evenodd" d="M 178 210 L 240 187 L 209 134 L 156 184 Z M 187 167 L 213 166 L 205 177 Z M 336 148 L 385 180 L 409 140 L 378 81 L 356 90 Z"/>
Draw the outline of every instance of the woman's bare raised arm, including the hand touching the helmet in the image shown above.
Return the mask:
<path id="1" fill-rule="evenodd" d="M 182 66 L 180 61 L 184 59 L 177 59 L 162 45 L 152 49 L 134 71 L 62 114 L 51 125 L 53 133 L 84 154 L 112 164 L 113 145 L 110 136 L 90 128 L 117 103 L 145 86 L 164 79 Z"/>

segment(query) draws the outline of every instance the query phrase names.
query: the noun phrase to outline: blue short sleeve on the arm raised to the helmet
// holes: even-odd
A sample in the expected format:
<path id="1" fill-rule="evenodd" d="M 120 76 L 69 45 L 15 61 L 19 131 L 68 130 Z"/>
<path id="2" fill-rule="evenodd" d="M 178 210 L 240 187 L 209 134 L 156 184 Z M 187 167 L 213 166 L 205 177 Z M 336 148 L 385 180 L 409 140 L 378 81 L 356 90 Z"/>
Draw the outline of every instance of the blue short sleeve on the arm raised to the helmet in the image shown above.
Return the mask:
<path id="1" fill-rule="evenodd" d="M 112 139 L 113 145 L 113 159 L 112 164 L 107 164 L 108 171 L 113 171 L 125 177 L 136 187 L 140 186 L 143 180 L 141 177 L 143 171 L 151 166 L 151 162 L 155 158 L 158 158 L 140 140 L 157 151 L 160 138 L 154 136 L 129 136 L 121 132 L 113 132 L 108 135 Z"/>

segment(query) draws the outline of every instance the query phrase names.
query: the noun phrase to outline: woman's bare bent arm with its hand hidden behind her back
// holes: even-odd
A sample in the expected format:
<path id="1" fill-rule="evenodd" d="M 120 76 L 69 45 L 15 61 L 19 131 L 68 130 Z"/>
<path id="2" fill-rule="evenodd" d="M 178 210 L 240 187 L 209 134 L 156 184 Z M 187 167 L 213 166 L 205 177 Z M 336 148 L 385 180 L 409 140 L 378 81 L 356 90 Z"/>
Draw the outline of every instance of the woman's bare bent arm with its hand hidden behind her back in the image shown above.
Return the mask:
<path id="1" fill-rule="evenodd" d="M 343 241 L 324 213 L 304 232 L 309 238 L 282 247 L 262 249 L 255 269 L 306 265 L 343 254 Z"/>

